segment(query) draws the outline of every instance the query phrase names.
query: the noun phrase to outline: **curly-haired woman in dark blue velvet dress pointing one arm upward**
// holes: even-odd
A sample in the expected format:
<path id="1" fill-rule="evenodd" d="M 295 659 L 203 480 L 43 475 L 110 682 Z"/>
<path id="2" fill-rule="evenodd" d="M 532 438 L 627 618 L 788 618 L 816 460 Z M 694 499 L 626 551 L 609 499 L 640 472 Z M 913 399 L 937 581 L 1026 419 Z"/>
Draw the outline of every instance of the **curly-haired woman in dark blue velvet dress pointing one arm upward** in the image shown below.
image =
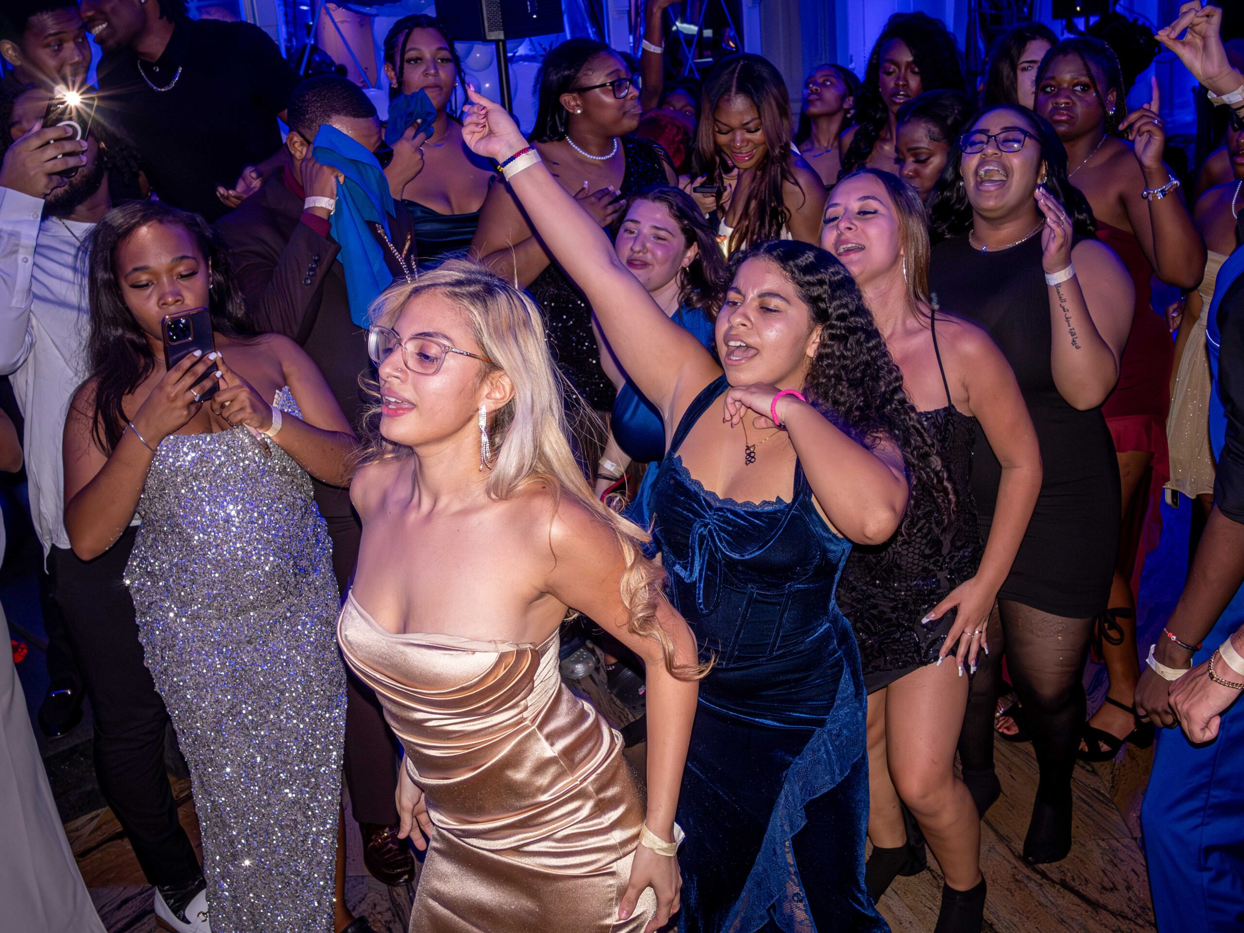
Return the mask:
<path id="1" fill-rule="evenodd" d="M 471 101 L 468 146 L 498 160 L 526 147 L 503 108 Z M 718 363 L 545 167 L 515 164 L 515 197 L 668 438 L 656 536 L 671 600 L 715 661 L 678 806 L 679 926 L 886 929 L 863 887 L 865 692 L 835 587 L 851 540 L 898 527 L 908 476 L 944 488 L 902 376 L 850 272 L 795 241 L 733 258 Z"/>

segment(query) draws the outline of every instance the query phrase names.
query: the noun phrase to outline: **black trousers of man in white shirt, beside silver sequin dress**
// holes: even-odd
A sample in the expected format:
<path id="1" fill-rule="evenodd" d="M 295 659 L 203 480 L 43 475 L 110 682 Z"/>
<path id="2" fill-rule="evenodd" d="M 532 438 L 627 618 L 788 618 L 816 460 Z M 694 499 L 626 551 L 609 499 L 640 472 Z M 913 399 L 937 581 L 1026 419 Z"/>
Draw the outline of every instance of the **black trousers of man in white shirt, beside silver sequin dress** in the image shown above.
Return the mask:
<path id="1" fill-rule="evenodd" d="M 134 603 L 124 583 L 137 529 L 108 551 L 81 561 L 53 547 L 50 598 L 65 623 L 95 714 L 95 771 L 152 884 L 183 887 L 202 875 L 177 819 L 164 769 L 168 710 L 138 643 Z"/>

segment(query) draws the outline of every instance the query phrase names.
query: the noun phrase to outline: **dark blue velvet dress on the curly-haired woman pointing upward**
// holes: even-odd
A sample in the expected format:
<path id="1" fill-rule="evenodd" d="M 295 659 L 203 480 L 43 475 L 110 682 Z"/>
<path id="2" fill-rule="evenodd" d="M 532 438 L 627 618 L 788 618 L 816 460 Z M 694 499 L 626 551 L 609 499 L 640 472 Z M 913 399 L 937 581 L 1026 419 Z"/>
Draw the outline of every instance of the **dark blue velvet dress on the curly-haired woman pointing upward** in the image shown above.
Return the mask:
<path id="1" fill-rule="evenodd" d="M 687 409 L 652 491 L 669 600 L 715 658 L 678 800 L 679 931 L 884 931 L 863 887 L 860 652 L 833 596 L 851 544 L 799 464 L 790 503 L 722 499 L 687 471 L 678 448 L 725 389 Z"/>

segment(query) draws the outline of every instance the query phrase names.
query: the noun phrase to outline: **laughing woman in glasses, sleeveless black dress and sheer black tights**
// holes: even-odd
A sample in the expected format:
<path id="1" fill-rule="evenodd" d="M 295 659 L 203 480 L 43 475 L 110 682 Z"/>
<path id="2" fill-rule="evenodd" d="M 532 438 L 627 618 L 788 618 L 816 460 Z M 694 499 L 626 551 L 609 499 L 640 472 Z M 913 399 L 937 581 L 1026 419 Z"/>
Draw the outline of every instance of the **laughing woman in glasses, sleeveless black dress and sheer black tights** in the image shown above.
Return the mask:
<path id="1" fill-rule="evenodd" d="M 978 322 L 1006 356 L 1028 403 L 1044 478 L 1024 541 L 998 593 L 1008 669 L 1024 705 L 1040 766 L 1029 862 L 1071 848 L 1071 771 L 1085 694 L 1080 683 L 1092 620 L 1106 607 L 1118 544 L 1115 447 L 1101 403 L 1118 378 L 1132 321 L 1132 282 L 1092 238 L 1092 211 L 1067 182 L 1054 128 L 1026 108 L 985 109 L 970 123 L 934 195 L 944 239 L 929 287 L 943 310 Z M 973 495 L 988 532 L 1000 469 L 978 435 Z M 1005 636 L 1003 638 L 1001 636 Z M 959 753 L 984 814 L 998 796 L 993 705 L 1000 652 L 973 683 Z"/>

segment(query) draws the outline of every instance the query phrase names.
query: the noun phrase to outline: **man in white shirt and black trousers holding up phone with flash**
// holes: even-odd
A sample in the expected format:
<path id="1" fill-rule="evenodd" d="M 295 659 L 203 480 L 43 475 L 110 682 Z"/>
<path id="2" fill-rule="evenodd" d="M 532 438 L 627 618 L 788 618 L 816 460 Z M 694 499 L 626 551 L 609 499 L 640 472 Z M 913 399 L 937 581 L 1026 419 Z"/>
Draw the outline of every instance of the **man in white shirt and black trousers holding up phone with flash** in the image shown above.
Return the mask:
<path id="1" fill-rule="evenodd" d="M 164 769 L 168 713 L 143 663 L 122 542 L 85 562 L 65 530 L 65 417 L 86 377 L 90 305 L 78 258 L 112 208 L 111 156 L 92 132 L 40 127 L 51 95 L 31 87 L 14 102 L 12 143 L 0 163 L 0 374 L 25 417 L 30 509 L 44 544 L 49 600 L 95 717 L 95 765 L 168 929 L 208 933 L 203 872 L 177 815 Z M 58 174 L 76 169 L 73 178 Z M 133 529 L 122 537 L 133 541 Z M 4 926 L 0 922 L 0 926 Z"/>

